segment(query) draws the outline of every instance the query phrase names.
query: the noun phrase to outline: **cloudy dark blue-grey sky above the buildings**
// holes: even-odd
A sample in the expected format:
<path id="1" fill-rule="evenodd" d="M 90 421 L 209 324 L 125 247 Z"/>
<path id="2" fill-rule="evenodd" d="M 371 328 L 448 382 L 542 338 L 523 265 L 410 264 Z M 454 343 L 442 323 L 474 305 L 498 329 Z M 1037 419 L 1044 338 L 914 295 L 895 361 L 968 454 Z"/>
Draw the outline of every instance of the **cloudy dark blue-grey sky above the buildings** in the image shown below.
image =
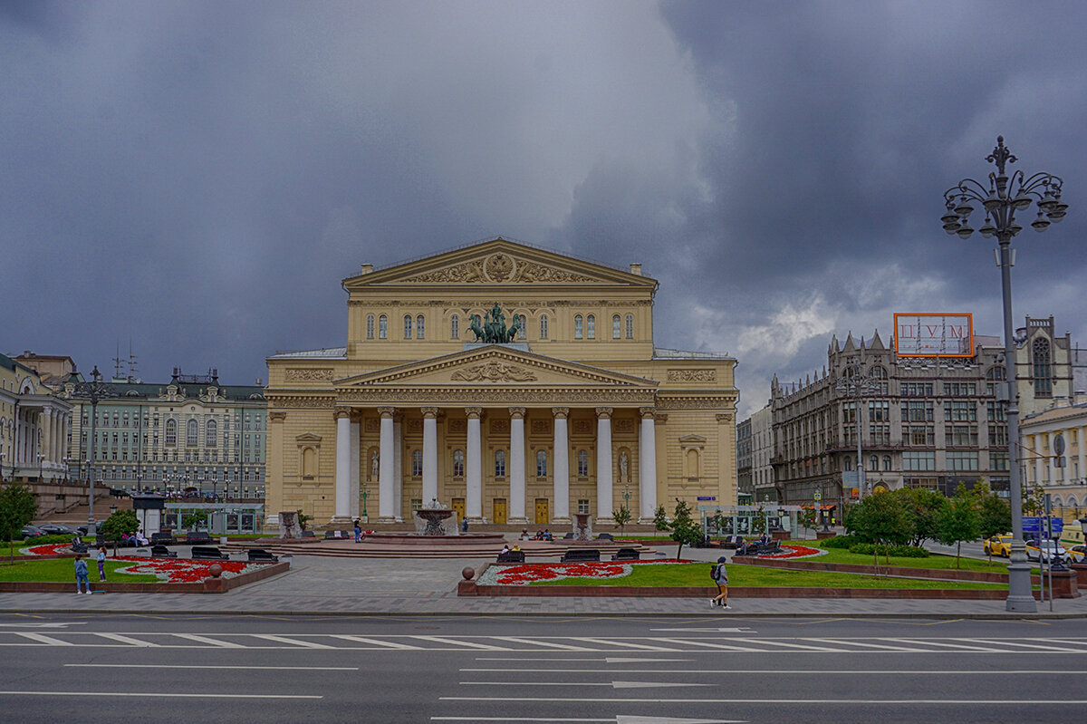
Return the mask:
<path id="1" fill-rule="evenodd" d="M 1002 330 L 944 191 L 998 135 L 1065 182 L 1016 326 L 1087 347 L 1087 3 L 0 2 L 0 351 L 266 378 L 340 280 L 504 236 L 660 280 L 740 415 L 895 312 Z M 1028 213 L 1028 212 L 1021 212 Z M 976 228 L 982 219 L 972 220 Z"/>

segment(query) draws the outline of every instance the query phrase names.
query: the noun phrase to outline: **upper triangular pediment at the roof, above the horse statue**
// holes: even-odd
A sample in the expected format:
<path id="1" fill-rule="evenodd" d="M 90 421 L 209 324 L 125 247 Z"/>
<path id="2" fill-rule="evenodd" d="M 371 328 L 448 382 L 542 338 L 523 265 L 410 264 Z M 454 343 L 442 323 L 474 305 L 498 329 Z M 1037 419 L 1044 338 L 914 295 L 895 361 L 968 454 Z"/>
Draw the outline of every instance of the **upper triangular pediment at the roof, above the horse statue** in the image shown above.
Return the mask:
<path id="1" fill-rule="evenodd" d="M 501 237 L 343 280 L 352 289 L 378 285 L 623 285 L 653 288 L 655 279 Z"/>

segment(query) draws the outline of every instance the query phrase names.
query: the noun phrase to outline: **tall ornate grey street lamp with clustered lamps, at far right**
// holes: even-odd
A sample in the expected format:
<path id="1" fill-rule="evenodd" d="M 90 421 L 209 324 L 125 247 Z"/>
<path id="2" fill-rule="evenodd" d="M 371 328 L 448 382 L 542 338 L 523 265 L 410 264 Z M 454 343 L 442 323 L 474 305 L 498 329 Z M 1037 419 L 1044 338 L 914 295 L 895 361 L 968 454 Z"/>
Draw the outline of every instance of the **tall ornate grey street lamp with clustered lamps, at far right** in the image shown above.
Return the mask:
<path id="1" fill-rule="evenodd" d="M 985 158 L 997 166 L 989 173 L 988 187 L 973 178 L 963 178 L 944 194 L 947 213 L 940 217 L 944 230 L 961 239 L 969 239 L 974 229 L 970 226 L 970 215 L 974 212 L 971 202 L 985 209 L 985 223 L 978 232 L 982 236 L 997 237 L 997 262 L 1000 265 L 1000 287 L 1004 315 L 1004 370 L 1008 396 L 1008 483 L 1012 508 L 1011 562 L 1008 564 L 1008 611 L 1033 612 L 1036 610 L 1030 592 L 1030 567 L 1026 561 L 1023 542 L 1023 492 L 1019 469 L 1019 399 L 1015 390 L 1015 342 L 1012 338 L 1012 264 L 1015 254 L 1012 238 L 1023 230 L 1015 222 L 1016 211 L 1026 211 L 1032 204 L 1038 208 L 1037 217 L 1030 223 L 1036 232 L 1045 232 L 1050 223 L 1060 222 L 1069 209 L 1061 201 L 1063 179 L 1048 173 L 1027 176 L 1015 171 L 1009 176 L 1005 166 L 1019 161 L 1004 146 L 1004 137 L 997 136 L 997 146 Z"/>

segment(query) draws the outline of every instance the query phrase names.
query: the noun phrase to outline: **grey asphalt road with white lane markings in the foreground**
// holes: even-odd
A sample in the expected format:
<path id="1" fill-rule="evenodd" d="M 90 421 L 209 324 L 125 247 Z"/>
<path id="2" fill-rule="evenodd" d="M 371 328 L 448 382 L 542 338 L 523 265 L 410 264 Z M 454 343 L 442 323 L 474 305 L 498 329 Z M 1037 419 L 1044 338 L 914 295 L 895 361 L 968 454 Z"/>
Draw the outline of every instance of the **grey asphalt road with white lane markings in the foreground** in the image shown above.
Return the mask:
<path id="1" fill-rule="evenodd" d="M 0 616 L 0 721 L 1026 722 L 1087 621 Z"/>

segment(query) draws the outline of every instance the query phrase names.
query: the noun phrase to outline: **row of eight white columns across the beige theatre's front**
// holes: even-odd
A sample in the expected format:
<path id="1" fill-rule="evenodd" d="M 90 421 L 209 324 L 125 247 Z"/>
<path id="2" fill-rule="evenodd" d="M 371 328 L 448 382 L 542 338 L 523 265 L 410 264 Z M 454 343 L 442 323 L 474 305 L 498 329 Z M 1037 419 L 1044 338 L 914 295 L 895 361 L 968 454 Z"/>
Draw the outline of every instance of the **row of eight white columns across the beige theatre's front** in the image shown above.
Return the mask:
<path id="1" fill-rule="evenodd" d="M 438 497 L 438 415 L 437 407 L 416 408 L 423 417 L 423 470 L 422 499 L 424 504 Z M 391 523 L 402 520 L 403 512 L 400 484 L 402 476 L 401 423 L 398 412 L 404 410 L 393 407 L 379 407 L 379 453 L 378 453 L 378 522 Z M 465 515 L 470 521 L 483 520 L 483 430 L 482 407 L 463 408 L 467 420 L 466 446 L 464 459 L 465 482 Z M 508 479 L 509 522 L 511 524 L 527 523 L 526 511 L 526 476 L 525 476 L 525 416 L 526 408 L 508 408 L 510 415 L 510 458 Z M 597 463 L 597 520 L 612 517 L 612 412 L 613 408 L 599 407 L 595 409 L 597 419 L 596 463 Z M 654 429 L 654 408 L 638 408 L 639 430 L 639 469 L 638 517 L 650 520 L 657 510 L 657 434 Z M 551 478 L 553 483 L 554 522 L 567 522 L 570 514 L 570 436 L 567 420 L 569 407 L 551 408 L 553 429 L 553 465 Z M 335 514 L 332 522 L 342 524 L 359 515 L 359 482 L 360 482 L 360 435 L 359 423 L 351 420 L 349 409 L 336 412 L 336 500 Z M 448 501 L 443 501 L 448 502 Z"/>

